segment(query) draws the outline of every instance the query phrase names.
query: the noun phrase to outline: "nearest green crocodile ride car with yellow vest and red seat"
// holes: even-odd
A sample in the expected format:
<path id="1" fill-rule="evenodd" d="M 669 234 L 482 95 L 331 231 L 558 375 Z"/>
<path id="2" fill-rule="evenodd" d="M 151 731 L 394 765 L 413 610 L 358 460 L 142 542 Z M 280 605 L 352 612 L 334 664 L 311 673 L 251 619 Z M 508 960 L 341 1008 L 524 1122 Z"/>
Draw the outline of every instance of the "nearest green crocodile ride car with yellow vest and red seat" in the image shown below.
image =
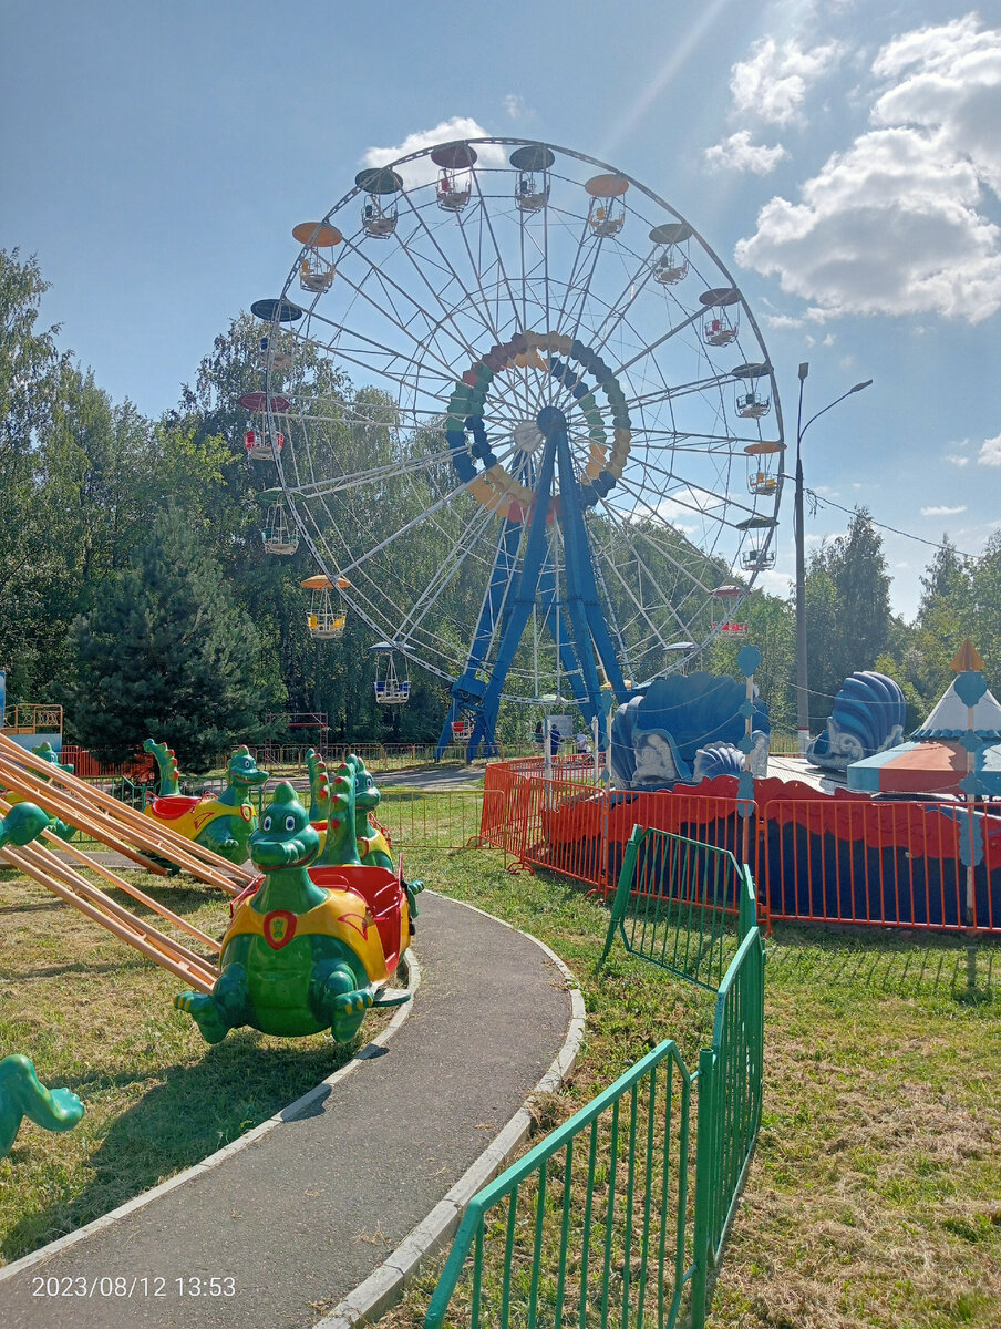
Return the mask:
<path id="1" fill-rule="evenodd" d="M 354 849 L 350 789 L 328 803 L 324 849 Z M 391 872 L 355 861 L 316 864 L 320 836 L 291 784 L 282 783 L 250 836 L 263 878 L 237 904 L 222 942 L 222 974 L 211 993 L 174 998 L 209 1043 L 250 1025 L 302 1037 L 330 1029 L 339 1043 L 358 1033 L 374 1006 L 397 1006 L 387 990 L 409 941 L 407 894 Z M 312 865 L 312 867 L 311 867 Z"/>

